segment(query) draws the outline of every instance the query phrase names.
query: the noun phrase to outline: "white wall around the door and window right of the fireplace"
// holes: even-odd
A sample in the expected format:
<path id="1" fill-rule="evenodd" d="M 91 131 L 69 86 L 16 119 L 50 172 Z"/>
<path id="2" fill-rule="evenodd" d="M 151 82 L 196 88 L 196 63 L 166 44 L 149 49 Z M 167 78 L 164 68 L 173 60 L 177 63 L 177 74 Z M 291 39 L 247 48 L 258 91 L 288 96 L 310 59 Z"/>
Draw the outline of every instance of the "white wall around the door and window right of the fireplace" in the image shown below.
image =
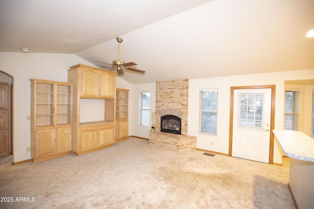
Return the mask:
<path id="1" fill-rule="evenodd" d="M 283 129 L 285 80 L 313 79 L 314 70 L 225 76 L 189 80 L 188 135 L 197 137 L 197 148 L 226 153 L 229 151 L 230 87 L 276 85 L 275 129 Z M 218 88 L 217 136 L 198 133 L 199 91 Z M 211 145 L 213 141 L 213 145 Z M 275 140 L 274 163 L 281 163 L 281 148 Z"/>

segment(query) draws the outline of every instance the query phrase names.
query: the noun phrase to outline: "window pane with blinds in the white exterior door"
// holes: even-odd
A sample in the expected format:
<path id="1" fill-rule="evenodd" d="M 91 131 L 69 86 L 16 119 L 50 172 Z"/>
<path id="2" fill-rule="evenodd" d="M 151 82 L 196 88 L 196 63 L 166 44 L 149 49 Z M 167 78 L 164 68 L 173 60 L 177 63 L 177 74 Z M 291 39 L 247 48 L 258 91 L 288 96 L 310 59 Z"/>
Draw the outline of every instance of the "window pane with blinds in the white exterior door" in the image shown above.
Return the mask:
<path id="1" fill-rule="evenodd" d="M 262 128 L 265 93 L 239 93 L 237 102 L 238 125 Z"/>

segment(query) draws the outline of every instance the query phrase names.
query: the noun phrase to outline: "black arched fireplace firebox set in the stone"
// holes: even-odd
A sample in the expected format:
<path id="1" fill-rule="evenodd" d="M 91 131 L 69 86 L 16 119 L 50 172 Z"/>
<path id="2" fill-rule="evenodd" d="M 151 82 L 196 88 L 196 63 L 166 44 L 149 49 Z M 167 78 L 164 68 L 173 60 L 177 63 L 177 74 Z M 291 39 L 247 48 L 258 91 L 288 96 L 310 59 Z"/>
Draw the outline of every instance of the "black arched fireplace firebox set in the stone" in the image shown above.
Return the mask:
<path id="1" fill-rule="evenodd" d="M 172 134 L 181 134 L 181 118 L 173 115 L 165 115 L 160 118 L 160 131 Z"/>

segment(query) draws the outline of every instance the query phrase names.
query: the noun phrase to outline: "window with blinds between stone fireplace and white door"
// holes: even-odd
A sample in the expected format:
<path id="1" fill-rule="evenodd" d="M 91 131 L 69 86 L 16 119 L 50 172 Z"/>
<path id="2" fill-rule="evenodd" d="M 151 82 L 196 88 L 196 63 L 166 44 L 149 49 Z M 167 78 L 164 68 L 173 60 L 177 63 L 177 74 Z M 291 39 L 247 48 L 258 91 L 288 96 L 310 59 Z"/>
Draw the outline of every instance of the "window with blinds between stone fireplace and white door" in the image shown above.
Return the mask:
<path id="1" fill-rule="evenodd" d="M 218 90 L 200 91 L 199 132 L 217 135 Z"/>

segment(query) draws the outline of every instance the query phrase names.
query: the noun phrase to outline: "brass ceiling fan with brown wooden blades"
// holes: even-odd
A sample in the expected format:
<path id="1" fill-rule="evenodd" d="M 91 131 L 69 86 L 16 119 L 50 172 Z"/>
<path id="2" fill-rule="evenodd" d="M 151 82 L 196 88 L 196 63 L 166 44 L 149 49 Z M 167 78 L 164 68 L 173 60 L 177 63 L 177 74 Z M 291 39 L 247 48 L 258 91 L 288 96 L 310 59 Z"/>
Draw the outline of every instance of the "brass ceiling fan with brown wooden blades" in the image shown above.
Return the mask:
<path id="1" fill-rule="evenodd" d="M 123 70 L 129 70 L 130 72 L 137 72 L 137 73 L 144 74 L 145 73 L 144 70 L 130 68 L 130 66 L 135 66 L 137 64 L 133 62 L 125 63 L 124 61 L 120 60 L 120 43 L 123 42 L 123 39 L 121 37 L 117 37 L 116 40 L 118 42 L 118 60 L 112 61 L 112 64 L 98 62 L 98 61 L 94 61 L 94 62 L 110 65 L 110 67 L 105 67 L 105 66 L 99 66 L 99 67 L 115 69 L 117 70 L 118 75 L 123 75 L 124 74 Z"/>

